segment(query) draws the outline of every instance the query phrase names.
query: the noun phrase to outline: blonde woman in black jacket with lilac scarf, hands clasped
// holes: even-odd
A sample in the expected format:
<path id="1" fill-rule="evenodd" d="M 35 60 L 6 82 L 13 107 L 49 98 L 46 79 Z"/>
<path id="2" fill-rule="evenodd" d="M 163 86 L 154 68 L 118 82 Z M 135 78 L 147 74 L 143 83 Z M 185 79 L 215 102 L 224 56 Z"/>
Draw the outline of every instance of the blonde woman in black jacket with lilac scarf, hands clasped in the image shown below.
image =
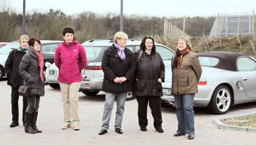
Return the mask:
<path id="1" fill-rule="evenodd" d="M 104 81 L 102 91 L 105 91 L 105 107 L 102 116 L 102 127 L 99 135 L 107 133 L 109 121 L 116 99 L 116 121 L 115 131 L 119 134 L 124 114 L 124 104 L 126 103 L 127 92 L 132 91 L 132 77 L 135 71 L 135 62 L 132 51 L 126 48 L 127 34 L 117 32 L 115 43 L 105 50 L 102 58 L 102 71 Z"/>

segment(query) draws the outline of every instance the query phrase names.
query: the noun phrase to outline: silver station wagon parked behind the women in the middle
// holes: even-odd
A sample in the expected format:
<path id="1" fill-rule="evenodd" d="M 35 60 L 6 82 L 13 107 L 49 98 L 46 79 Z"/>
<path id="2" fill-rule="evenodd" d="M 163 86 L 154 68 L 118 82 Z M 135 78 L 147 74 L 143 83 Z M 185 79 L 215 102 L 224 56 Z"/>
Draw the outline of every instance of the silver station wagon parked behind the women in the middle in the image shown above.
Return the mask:
<path id="1" fill-rule="evenodd" d="M 84 78 L 80 85 L 82 93 L 88 96 L 93 96 L 101 91 L 104 77 L 104 72 L 101 68 L 101 60 L 105 49 L 112 46 L 113 43 L 113 39 L 89 40 L 82 43 L 85 47 L 88 61 L 85 69 L 82 70 L 82 76 Z M 126 48 L 135 52 L 140 49 L 140 43 L 141 39 L 128 39 Z M 171 57 L 175 52 L 162 44 L 155 43 L 155 47 L 157 52 L 161 55 L 165 67 L 171 68 Z M 48 67 L 46 69 L 46 82 L 48 82 L 52 88 L 59 88 L 59 82 L 57 81 L 59 69 L 55 64 L 51 63 L 46 63 L 46 66 Z M 135 96 L 132 96 L 132 92 L 127 94 L 127 100 L 131 100 L 134 97 Z"/>

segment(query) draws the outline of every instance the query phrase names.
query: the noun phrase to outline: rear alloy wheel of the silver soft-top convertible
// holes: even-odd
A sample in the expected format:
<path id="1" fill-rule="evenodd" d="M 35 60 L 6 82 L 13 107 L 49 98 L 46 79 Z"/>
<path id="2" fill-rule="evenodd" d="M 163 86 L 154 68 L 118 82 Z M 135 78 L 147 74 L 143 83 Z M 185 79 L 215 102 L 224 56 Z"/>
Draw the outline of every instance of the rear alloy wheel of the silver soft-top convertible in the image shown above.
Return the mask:
<path id="1" fill-rule="evenodd" d="M 213 92 L 212 99 L 207 106 L 210 113 L 223 115 L 229 111 L 232 104 L 232 96 L 226 85 L 220 85 Z"/>

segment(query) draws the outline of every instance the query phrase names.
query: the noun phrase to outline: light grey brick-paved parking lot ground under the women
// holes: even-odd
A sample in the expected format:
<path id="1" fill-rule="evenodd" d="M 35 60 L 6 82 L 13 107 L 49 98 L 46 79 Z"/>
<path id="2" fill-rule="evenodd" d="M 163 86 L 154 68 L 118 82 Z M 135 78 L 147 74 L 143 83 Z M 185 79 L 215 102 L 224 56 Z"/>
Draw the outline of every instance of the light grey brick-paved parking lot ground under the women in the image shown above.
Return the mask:
<path id="1" fill-rule="evenodd" d="M 45 86 L 46 95 L 41 97 L 37 126 L 43 133 L 29 134 L 22 126 L 22 99 L 20 105 L 20 126 L 10 128 L 12 122 L 10 93 L 7 79 L 0 81 L 0 144 L 255 144 L 255 132 L 219 130 L 212 123 L 213 118 L 240 115 L 256 111 L 255 103 L 237 105 L 226 115 L 210 115 L 205 108 L 194 108 L 196 134 L 194 140 L 188 135 L 174 137 L 177 130 L 175 107 L 162 108 L 163 130 L 158 133 L 153 126 L 151 110 L 148 108 L 148 131 L 142 132 L 138 126 L 137 101 L 126 102 L 123 118 L 122 135 L 115 132 L 115 110 L 113 108 L 110 129 L 105 135 L 98 135 L 101 130 L 101 119 L 105 95 L 100 92 L 96 96 L 85 96 L 79 92 L 80 130 L 72 127 L 62 130 L 63 108 L 59 89 Z"/>

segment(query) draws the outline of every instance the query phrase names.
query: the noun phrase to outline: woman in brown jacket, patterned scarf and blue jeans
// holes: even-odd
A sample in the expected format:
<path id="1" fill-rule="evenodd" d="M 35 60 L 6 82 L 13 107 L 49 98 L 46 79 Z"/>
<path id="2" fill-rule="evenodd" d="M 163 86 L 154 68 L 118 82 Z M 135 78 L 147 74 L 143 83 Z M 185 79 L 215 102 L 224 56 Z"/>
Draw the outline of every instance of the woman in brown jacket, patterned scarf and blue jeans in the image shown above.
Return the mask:
<path id="1" fill-rule="evenodd" d="M 176 106 L 178 130 L 174 136 L 188 134 L 188 139 L 194 139 L 194 95 L 198 92 L 197 83 L 202 74 L 202 68 L 197 55 L 191 52 L 191 44 L 187 37 L 179 37 L 176 41 L 177 51 L 171 59 L 172 94 Z"/>

